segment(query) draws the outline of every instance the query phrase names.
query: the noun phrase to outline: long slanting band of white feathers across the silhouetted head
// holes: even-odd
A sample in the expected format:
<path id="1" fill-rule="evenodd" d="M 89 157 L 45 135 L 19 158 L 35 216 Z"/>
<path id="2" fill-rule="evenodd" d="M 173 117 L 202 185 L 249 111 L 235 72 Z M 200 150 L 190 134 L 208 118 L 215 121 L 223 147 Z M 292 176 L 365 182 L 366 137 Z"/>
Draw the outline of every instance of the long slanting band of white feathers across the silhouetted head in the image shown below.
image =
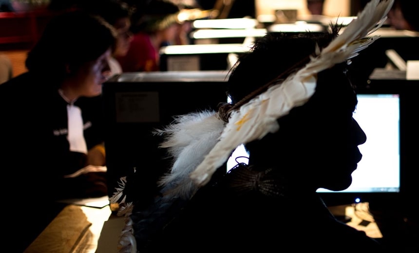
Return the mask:
<path id="1" fill-rule="evenodd" d="M 356 56 L 375 41 L 378 36 L 364 37 L 381 27 L 393 1 L 368 2 L 358 18 L 352 20 L 343 33 L 324 48 L 320 55 L 311 58 L 304 68 L 231 113 L 220 141 L 190 174 L 197 186 L 208 183 L 214 171 L 225 163 L 238 145 L 277 131 L 279 126 L 276 120 L 286 115 L 291 108 L 304 104 L 314 93 L 316 73 Z"/>

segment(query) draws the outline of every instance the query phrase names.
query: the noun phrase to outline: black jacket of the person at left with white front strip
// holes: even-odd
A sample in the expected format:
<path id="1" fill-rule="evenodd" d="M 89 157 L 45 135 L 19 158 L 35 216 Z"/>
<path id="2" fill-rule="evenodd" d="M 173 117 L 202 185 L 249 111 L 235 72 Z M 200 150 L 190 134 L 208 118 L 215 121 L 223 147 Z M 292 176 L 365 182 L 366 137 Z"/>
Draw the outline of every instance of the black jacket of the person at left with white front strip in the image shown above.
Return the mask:
<path id="1" fill-rule="evenodd" d="M 57 199 L 107 193 L 103 185 L 90 184 L 97 174 L 63 178 L 83 167 L 86 155 L 69 151 L 67 103 L 55 87 L 48 76 L 29 72 L 0 85 L 0 173 L 9 220 L 5 231 L 18 240 L 16 252 L 57 216 L 62 208 Z M 103 142 L 100 97 L 92 99 L 97 101 L 89 106 L 87 98 L 75 103 L 82 110 L 88 148 Z"/>

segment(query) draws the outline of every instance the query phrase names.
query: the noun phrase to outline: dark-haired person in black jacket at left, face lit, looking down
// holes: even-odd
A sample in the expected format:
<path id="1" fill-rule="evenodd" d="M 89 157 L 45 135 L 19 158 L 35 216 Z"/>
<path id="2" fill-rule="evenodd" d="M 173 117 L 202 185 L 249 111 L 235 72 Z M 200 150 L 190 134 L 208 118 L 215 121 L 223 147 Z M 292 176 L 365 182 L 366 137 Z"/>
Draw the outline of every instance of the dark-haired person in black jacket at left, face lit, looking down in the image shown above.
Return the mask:
<path id="1" fill-rule="evenodd" d="M 102 108 L 89 100 L 111 74 L 115 40 L 102 18 L 66 12 L 28 53 L 28 71 L 0 85 L 0 167 L 13 205 L 6 241 L 18 239 L 15 252 L 62 210 L 58 200 L 107 195 Z"/>

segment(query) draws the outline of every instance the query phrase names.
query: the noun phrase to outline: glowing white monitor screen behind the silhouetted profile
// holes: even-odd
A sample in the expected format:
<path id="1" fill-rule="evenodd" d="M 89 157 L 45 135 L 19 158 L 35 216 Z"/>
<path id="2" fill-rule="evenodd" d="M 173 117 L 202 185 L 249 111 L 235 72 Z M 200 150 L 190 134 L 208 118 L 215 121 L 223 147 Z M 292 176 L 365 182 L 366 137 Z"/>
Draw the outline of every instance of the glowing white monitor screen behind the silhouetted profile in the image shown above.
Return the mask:
<path id="1" fill-rule="evenodd" d="M 400 191 L 400 96 L 399 94 L 358 94 L 353 117 L 367 136 L 359 145 L 362 160 L 352 173 L 352 184 L 343 193 Z M 229 158 L 228 170 L 247 163 L 248 153 L 239 146 Z M 319 189 L 318 192 L 332 192 Z M 336 192 L 334 192 L 336 193 Z M 354 200 L 356 201 L 356 200 Z"/>

